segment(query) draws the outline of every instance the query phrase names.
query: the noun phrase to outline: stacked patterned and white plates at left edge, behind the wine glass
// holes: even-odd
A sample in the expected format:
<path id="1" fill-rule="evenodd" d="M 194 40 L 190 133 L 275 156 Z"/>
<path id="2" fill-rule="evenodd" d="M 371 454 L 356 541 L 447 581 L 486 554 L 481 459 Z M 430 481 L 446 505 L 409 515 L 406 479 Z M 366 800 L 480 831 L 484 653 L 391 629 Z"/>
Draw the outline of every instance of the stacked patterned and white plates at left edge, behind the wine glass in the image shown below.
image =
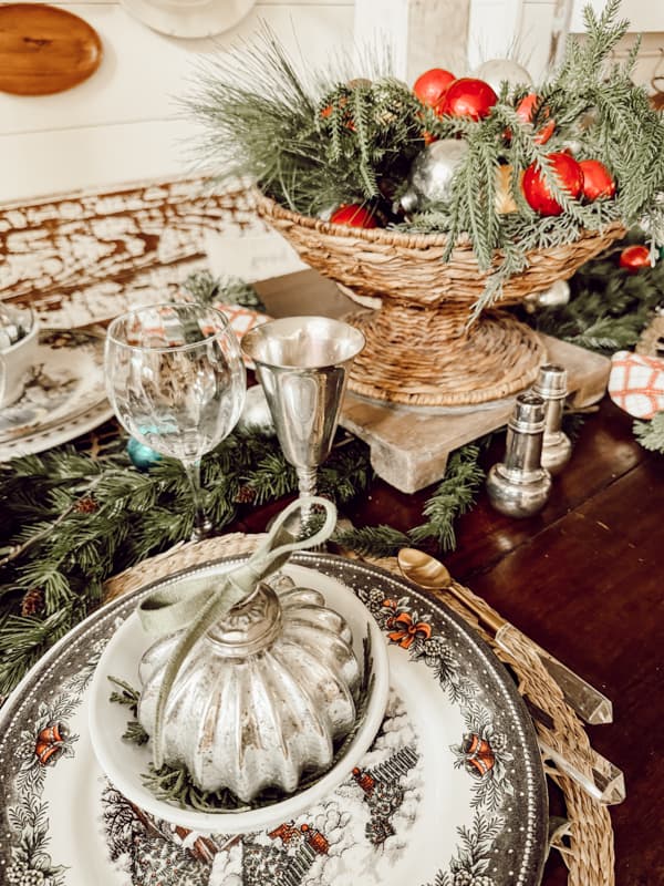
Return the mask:
<path id="1" fill-rule="evenodd" d="M 104 339 L 83 331 L 41 332 L 23 394 L 0 413 L 0 461 L 66 443 L 112 414 Z"/>

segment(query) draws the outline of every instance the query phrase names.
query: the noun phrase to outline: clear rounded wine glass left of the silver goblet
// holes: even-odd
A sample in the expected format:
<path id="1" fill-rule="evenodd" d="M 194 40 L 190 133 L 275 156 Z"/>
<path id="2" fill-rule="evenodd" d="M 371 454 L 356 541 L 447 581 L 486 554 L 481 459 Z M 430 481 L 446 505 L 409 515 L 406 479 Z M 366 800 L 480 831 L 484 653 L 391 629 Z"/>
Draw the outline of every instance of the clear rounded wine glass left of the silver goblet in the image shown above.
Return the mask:
<path id="1" fill-rule="evenodd" d="M 194 498 L 193 538 L 204 538 L 211 526 L 200 459 L 230 433 L 245 402 L 245 364 L 226 317 L 198 303 L 131 310 L 108 327 L 105 371 L 123 427 L 183 463 Z"/>

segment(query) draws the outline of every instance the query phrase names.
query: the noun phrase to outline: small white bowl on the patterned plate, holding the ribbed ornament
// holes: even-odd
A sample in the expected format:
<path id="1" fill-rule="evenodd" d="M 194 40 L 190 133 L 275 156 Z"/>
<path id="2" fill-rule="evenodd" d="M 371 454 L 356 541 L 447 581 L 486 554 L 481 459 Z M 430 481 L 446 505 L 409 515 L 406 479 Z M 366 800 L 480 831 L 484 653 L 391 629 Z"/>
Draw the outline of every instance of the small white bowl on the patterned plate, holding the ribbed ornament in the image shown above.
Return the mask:
<path id="1" fill-rule="evenodd" d="M 228 566 L 218 565 L 196 569 L 178 581 L 199 583 L 211 575 L 221 574 Z M 131 714 L 126 707 L 108 701 L 113 676 L 139 688 L 138 663 L 145 650 L 152 645 L 133 614 L 110 640 L 97 664 L 90 702 L 90 733 L 100 765 L 115 787 L 129 801 L 145 812 L 172 824 L 198 832 L 237 834 L 273 827 L 281 822 L 297 817 L 319 803 L 350 777 L 354 766 L 371 746 L 385 713 L 390 688 L 387 649 L 381 629 L 350 588 L 321 573 L 303 566 L 288 565 L 283 571 L 297 585 L 313 587 L 325 598 L 325 605 L 340 612 L 353 633 L 353 648 L 359 660 L 364 660 L 363 641 L 369 636 L 372 650 L 372 673 L 369 681 L 369 701 L 364 718 L 343 755 L 322 777 L 309 786 L 295 791 L 287 799 L 257 808 L 229 812 L 198 812 L 193 807 L 180 807 L 158 800 L 142 781 L 152 760 L 148 745 L 137 746 L 122 740 Z M 159 587 L 173 581 L 160 583 Z"/>

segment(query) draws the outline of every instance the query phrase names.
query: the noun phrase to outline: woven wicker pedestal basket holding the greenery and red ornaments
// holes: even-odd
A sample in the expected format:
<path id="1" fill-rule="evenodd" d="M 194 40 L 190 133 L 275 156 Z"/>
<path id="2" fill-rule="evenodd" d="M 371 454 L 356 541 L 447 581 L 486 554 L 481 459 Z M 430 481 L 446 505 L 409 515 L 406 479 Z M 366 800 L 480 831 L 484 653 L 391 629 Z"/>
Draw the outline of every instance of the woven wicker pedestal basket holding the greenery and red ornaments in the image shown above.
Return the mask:
<path id="1" fill-rule="evenodd" d="M 546 352 L 529 327 L 490 310 L 467 328 L 488 277 L 478 270 L 469 243 L 444 262 L 444 235 L 333 225 L 259 193 L 256 208 L 312 268 L 360 297 L 381 299 L 378 310 L 345 318 L 366 338 L 349 382 L 354 393 L 405 405 L 471 406 L 535 381 Z M 530 253 L 528 268 L 505 284 L 500 305 L 518 303 L 571 277 L 624 233 L 613 223 L 573 244 Z M 496 267 L 499 260 L 497 254 Z"/>

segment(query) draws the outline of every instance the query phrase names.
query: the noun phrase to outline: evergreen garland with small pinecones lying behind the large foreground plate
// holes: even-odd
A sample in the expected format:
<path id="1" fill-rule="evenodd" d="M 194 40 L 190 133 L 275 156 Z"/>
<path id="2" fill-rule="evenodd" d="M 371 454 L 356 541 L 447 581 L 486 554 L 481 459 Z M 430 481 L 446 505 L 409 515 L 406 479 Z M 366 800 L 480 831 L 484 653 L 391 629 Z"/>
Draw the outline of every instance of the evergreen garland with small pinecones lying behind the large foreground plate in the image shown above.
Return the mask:
<path id="1" fill-rule="evenodd" d="M 371 467 L 364 444 L 333 450 L 321 494 L 340 506 L 364 491 Z M 201 464 L 204 504 L 221 529 L 242 503 L 297 491 L 279 444 L 235 433 Z M 101 600 L 111 575 L 188 539 L 190 486 L 179 462 L 137 471 L 124 452 L 98 460 L 71 447 L 0 465 L 0 696 Z"/>

